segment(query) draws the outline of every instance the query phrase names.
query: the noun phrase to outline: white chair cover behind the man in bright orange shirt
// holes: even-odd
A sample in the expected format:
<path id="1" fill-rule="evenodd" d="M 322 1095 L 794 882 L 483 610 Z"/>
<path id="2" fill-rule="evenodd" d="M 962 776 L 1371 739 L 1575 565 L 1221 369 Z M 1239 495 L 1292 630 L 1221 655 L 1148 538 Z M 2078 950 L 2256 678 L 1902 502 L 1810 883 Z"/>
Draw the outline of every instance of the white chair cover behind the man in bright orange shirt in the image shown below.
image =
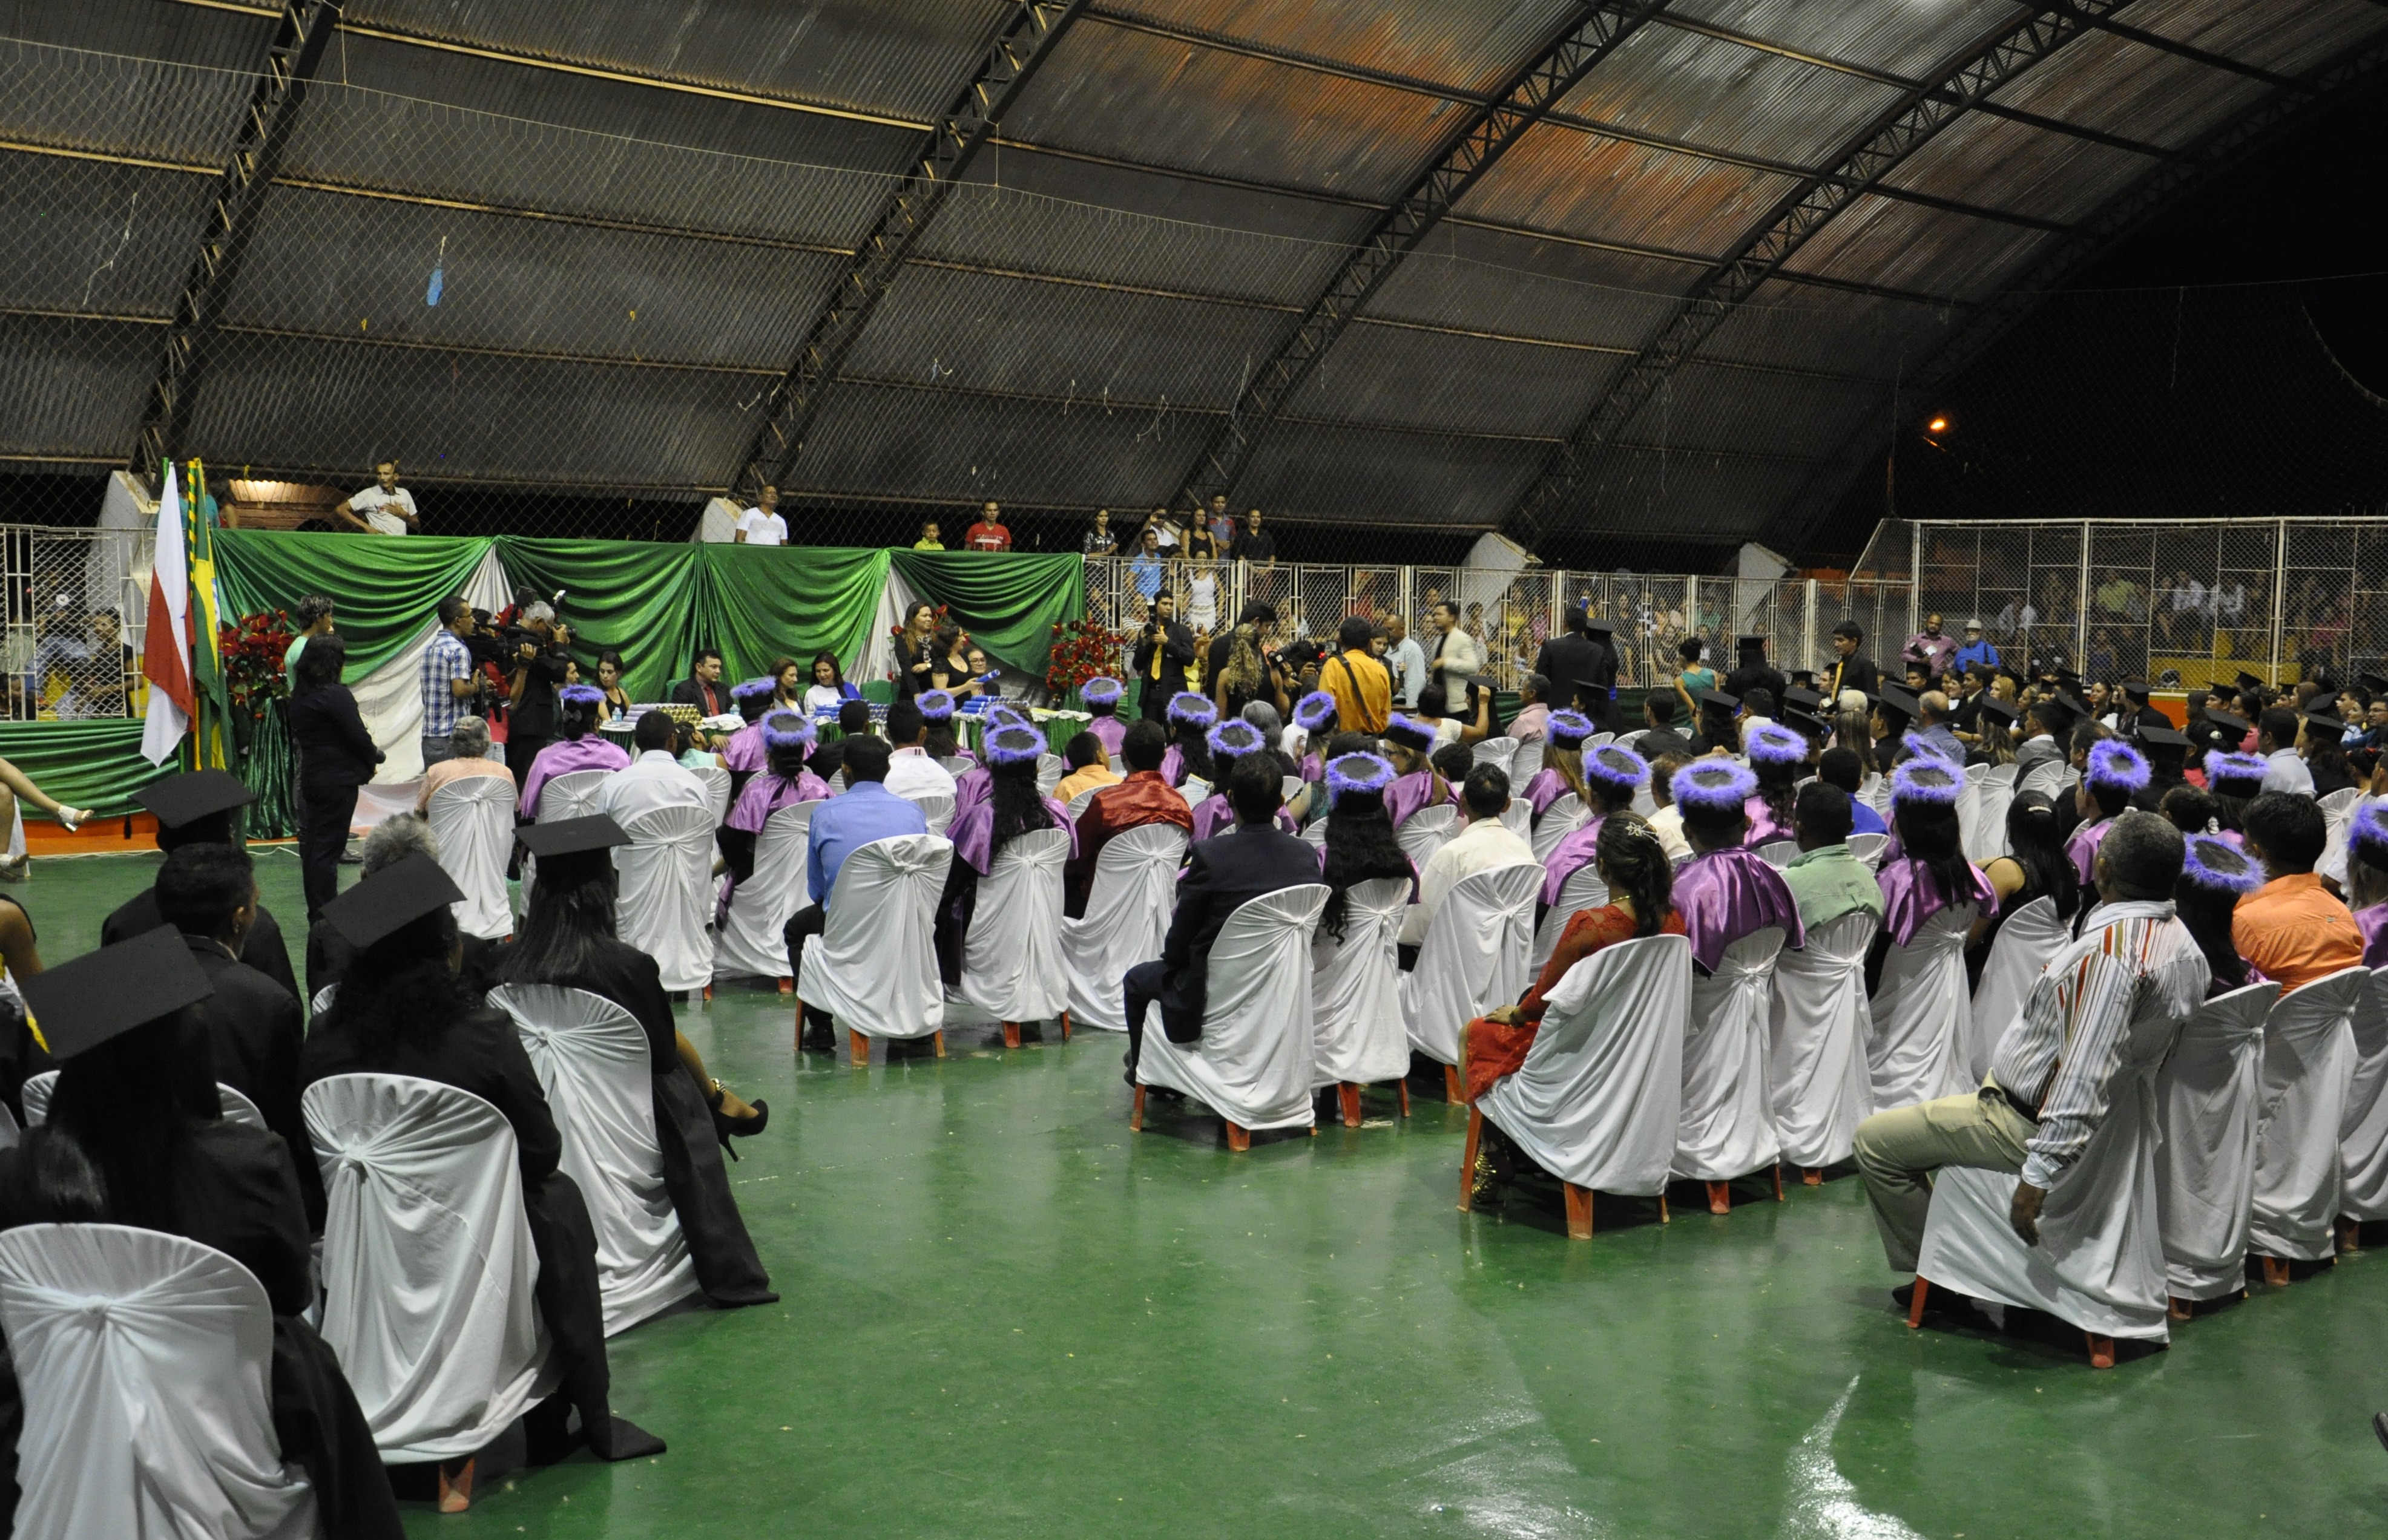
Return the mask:
<path id="1" fill-rule="evenodd" d="M 2254 1134 L 2254 1222 L 2247 1249 L 2314 1263 L 2333 1251 L 2355 1003 L 2371 972 L 2343 967 L 2281 996 L 2264 1020 L 2264 1103 Z"/>

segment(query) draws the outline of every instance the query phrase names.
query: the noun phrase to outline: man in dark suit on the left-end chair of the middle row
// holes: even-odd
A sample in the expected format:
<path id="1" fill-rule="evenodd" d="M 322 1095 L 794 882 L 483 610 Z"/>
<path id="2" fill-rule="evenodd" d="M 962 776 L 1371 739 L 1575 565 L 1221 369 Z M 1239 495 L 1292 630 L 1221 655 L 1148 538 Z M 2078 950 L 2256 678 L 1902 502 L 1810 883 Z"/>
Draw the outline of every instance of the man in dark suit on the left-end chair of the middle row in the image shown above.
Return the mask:
<path id="1" fill-rule="evenodd" d="M 1227 800 L 1235 805 L 1235 831 L 1208 838 L 1192 850 L 1184 876 L 1177 879 L 1177 912 L 1158 962 L 1127 969 L 1127 1084 L 1137 1084 L 1137 1058 L 1144 1053 L 1144 1012 L 1161 1003 L 1161 1029 L 1173 1043 L 1201 1039 L 1204 996 L 1208 988 L 1211 943 L 1242 905 L 1318 881 L 1318 850 L 1278 831 L 1278 807 L 1285 802 L 1282 776 L 1270 754 L 1244 754 L 1227 776 Z"/>

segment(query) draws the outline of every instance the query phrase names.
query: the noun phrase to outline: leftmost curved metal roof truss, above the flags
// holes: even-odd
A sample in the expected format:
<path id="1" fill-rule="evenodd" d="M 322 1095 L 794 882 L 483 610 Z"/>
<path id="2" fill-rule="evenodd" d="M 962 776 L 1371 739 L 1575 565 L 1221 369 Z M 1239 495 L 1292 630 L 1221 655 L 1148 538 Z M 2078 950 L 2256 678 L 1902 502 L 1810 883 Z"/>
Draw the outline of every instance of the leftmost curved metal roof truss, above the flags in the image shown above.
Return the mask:
<path id="1" fill-rule="evenodd" d="M 322 62 L 337 19 L 339 0 L 287 0 L 275 21 L 265 62 L 232 138 L 232 155 L 217 172 L 215 201 L 198 232 L 198 251 L 191 255 L 181 294 L 174 301 L 165 358 L 158 363 L 148 401 L 141 408 L 131 468 L 143 478 L 160 461 L 181 454 L 181 435 L 191 425 L 191 404 L 198 399 L 208 365 L 208 339 L 224 313 L 224 296 L 232 294 L 232 282 L 241 272 L 241 258 L 248 255 L 258 208 L 282 165 L 282 150 L 289 146 L 298 107 L 306 103 L 306 86 Z"/>

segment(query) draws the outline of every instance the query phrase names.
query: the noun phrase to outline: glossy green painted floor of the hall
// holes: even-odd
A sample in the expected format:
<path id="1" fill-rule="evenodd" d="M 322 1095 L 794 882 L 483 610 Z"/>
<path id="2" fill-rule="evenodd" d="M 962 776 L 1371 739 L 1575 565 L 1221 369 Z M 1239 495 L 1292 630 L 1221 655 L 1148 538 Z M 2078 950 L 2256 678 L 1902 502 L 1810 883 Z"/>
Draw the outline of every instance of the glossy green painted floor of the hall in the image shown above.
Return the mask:
<path id="1" fill-rule="evenodd" d="M 263 855 L 296 934 L 289 855 Z M 36 862 L 45 955 L 148 862 Z M 416 1535 L 2388 1535 L 2388 1251 L 2092 1373 L 1908 1332 L 1853 1177 L 1660 1227 L 1454 1211 L 1461 1120 L 1230 1156 L 1127 1132 L 1120 1041 L 853 1072 L 776 996 L 690 1039 L 771 1129 L 733 1168 L 783 1304 L 614 1342 L 671 1442 Z"/>

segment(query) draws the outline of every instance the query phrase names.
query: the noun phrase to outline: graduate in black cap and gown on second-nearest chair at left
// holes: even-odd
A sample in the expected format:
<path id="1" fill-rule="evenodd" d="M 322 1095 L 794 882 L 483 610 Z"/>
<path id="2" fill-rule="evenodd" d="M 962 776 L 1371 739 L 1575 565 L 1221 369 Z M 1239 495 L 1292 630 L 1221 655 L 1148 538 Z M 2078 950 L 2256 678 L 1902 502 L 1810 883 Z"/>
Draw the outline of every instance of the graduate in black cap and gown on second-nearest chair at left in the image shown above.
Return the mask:
<path id="1" fill-rule="evenodd" d="M 652 719 L 671 721 L 661 712 Z M 678 766 L 673 766 L 678 769 Z M 525 1423 L 533 1459 L 561 1454 L 566 1413 L 597 1459 L 642 1459 L 664 1440 L 614 1416 L 597 1296 L 597 1230 L 580 1189 L 559 1168 L 564 1139 L 506 1012 L 466 988 L 451 965 L 463 893 L 427 855 L 384 867 L 325 905 L 356 948 L 332 1008 L 306 1039 L 301 1082 L 332 1074 L 413 1074 L 480 1096 L 513 1127 L 523 1211 L 540 1256 L 537 1301 L 559 1392 Z"/>

